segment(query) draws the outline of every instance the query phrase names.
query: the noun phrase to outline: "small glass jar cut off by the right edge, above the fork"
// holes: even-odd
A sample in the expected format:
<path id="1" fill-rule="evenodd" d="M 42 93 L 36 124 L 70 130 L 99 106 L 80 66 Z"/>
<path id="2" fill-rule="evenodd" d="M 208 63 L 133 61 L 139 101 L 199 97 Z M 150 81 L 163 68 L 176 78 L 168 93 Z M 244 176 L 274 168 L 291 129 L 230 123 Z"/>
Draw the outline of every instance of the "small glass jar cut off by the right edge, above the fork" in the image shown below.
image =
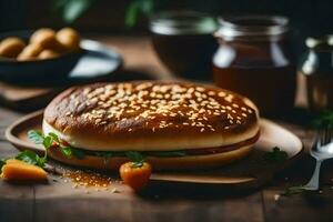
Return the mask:
<path id="1" fill-rule="evenodd" d="M 305 77 L 312 111 L 333 110 L 333 37 L 307 38 L 300 71 Z"/>

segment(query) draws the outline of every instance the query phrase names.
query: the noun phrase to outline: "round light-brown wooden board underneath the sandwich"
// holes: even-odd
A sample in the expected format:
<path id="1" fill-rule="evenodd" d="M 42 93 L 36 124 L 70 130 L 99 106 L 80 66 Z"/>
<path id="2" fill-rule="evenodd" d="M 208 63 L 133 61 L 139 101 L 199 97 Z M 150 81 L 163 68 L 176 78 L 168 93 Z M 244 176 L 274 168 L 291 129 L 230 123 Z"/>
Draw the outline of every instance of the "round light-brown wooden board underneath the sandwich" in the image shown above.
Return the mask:
<path id="1" fill-rule="evenodd" d="M 6 131 L 7 139 L 20 150 L 32 150 L 42 153 L 44 149 L 41 145 L 33 144 L 29 141 L 27 132 L 29 130 L 41 130 L 42 111 L 28 114 L 14 123 Z M 276 123 L 261 119 L 261 137 L 254 150 L 245 159 L 220 169 L 195 170 L 195 171 L 165 171 L 155 172 L 151 180 L 155 182 L 169 183 L 195 183 L 225 186 L 245 186 L 255 188 L 270 180 L 275 172 L 282 170 L 303 151 L 301 140 L 278 125 Z M 279 147 L 285 151 L 289 159 L 283 163 L 268 163 L 264 160 L 264 153 Z"/>

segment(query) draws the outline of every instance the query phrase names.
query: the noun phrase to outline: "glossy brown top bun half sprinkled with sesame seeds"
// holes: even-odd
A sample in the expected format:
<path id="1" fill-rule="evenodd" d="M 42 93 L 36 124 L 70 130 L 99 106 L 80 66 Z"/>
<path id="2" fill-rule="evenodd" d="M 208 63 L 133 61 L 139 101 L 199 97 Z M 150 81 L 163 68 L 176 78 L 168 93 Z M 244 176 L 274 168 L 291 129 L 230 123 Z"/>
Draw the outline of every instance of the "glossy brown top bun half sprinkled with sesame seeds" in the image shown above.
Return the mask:
<path id="1" fill-rule="evenodd" d="M 71 88 L 46 109 L 43 132 L 100 151 L 171 151 L 238 143 L 258 134 L 246 98 L 189 82 L 142 81 Z"/>

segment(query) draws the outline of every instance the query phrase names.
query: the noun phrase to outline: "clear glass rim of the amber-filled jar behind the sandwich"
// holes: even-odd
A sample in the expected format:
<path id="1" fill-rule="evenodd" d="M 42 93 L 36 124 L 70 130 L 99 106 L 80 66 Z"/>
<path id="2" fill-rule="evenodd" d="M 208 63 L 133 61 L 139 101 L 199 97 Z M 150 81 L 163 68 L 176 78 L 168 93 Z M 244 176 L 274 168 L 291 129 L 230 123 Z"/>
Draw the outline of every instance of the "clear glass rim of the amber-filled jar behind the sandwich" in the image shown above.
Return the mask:
<path id="1" fill-rule="evenodd" d="M 278 16 L 241 16 L 219 19 L 215 36 L 224 40 L 280 39 L 287 31 L 289 19 Z"/>

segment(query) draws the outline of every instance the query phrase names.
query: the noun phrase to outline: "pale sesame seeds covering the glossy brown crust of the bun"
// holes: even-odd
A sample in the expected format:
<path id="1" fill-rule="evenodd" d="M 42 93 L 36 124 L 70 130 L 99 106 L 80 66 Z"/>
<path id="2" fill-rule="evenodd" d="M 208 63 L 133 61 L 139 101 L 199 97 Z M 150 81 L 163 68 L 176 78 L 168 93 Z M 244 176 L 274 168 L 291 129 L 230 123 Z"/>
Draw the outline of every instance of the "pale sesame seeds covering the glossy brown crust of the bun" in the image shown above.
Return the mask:
<path id="1" fill-rule="evenodd" d="M 243 100 L 226 91 L 201 85 L 185 87 L 182 83 L 110 83 L 84 88 L 83 95 L 81 98 L 79 92 L 70 95 L 69 100 L 73 100 L 69 101 L 70 104 L 83 105 L 83 109 L 80 108 L 83 112 L 77 115 L 75 109 L 79 108 L 74 108 L 73 112 L 65 113 L 67 117 L 81 115 L 99 125 L 117 121 L 124 121 L 122 124 L 127 125 L 137 121 L 135 124 L 152 125 L 152 132 L 157 128 L 181 125 L 215 131 L 210 125 L 212 119 L 228 120 L 222 125 L 224 128 L 234 122 L 241 124 L 253 113 Z M 125 130 L 132 131 L 130 124 Z"/>

